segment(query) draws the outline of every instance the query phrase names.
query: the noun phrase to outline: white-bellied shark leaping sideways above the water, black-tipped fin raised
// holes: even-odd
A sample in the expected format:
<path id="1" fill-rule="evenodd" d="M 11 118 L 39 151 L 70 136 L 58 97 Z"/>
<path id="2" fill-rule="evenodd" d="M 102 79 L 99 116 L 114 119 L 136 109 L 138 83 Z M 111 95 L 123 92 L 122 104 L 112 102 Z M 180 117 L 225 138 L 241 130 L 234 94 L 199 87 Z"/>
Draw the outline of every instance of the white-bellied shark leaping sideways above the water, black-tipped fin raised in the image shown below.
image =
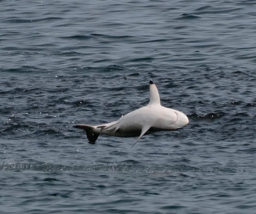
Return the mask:
<path id="1" fill-rule="evenodd" d="M 117 121 L 99 126 L 78 124 L 74 127 L 84 129 L 89 140 L 88 143 L 91 144 L 95 144 L 100 134 L 115 137 L 138 136 L 137 141 L 133 144 L 134 146 L 144 134 L 150 134 L 150 132 L 155 131 L 173 131 L 189 123 L 189 119 L 182 112 L 163 107 L 160 104 L 157 87 L 151 80 L 149 82 L 149 90 L 149 104 L 121 116 Z"/>

